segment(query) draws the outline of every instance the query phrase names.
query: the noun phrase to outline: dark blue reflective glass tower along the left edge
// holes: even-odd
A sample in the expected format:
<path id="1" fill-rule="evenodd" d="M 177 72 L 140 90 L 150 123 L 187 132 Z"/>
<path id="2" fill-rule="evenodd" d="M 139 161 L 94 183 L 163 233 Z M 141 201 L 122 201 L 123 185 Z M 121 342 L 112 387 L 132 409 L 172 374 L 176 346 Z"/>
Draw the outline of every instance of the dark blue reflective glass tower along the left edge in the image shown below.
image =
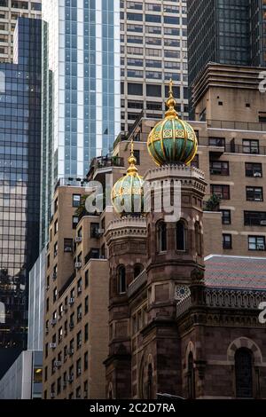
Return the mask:
<path id="1" fill-rule="evenodd" d="M 0 377 L 27 345 L 27 275 L 39 248 L 41 20 L 19 18 L 0 63 Z"/>

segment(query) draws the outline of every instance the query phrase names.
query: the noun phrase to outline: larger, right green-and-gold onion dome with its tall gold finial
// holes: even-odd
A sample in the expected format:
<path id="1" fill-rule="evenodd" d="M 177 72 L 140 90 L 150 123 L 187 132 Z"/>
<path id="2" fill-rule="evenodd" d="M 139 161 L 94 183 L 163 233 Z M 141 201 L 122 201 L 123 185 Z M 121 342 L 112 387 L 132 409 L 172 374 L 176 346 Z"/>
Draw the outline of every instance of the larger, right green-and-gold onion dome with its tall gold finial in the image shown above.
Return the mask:
<path id="1" fill-rule="evenodd" d="M 166 105 L 165 118 L 154 126 L 148 137 L 148 151 L 157 165 L 188 165 L 197 153 L 198 139 L 192 126 L 178 118 L 172 80 Z"/>

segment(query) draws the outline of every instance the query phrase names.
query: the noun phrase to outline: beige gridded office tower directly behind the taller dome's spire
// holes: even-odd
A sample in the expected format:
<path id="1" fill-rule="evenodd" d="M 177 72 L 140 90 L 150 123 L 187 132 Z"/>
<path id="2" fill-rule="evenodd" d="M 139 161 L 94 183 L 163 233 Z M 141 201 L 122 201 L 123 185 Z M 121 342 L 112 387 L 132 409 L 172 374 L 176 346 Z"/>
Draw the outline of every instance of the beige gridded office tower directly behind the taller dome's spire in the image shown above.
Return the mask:
<path id="1" fill-rule="evenodd" d="M 122 0 L 121 130 L 129 131 L 137 116 L 161 118 L 161 98 L 168 80 L 175 81 L 177 109 L 187 116 L 186 2 Z"/>

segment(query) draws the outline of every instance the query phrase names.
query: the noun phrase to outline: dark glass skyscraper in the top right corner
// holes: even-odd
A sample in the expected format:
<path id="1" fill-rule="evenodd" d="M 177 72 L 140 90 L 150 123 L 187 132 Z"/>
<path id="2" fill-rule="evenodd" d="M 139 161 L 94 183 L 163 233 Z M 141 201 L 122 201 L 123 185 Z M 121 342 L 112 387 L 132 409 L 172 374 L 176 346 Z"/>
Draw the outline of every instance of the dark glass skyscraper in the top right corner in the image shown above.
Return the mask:
<path id="1" fill-rule="evenodd" d="M 266 66 L 263 0 L 187 0 L 189 83 L 208 62 Z"/>

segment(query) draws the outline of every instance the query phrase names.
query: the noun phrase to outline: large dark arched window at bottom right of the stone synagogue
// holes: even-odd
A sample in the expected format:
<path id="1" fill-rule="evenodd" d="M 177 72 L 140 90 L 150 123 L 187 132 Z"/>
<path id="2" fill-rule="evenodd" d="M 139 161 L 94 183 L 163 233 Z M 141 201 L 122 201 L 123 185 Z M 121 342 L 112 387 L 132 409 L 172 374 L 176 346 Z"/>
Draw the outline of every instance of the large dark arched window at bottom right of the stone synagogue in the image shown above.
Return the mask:
<path id="1" fill-rule="evenodd" d="M 253 397 L 253 355 L 251 350 L 240 348 L 235 354 L 236 396 Z"/>

